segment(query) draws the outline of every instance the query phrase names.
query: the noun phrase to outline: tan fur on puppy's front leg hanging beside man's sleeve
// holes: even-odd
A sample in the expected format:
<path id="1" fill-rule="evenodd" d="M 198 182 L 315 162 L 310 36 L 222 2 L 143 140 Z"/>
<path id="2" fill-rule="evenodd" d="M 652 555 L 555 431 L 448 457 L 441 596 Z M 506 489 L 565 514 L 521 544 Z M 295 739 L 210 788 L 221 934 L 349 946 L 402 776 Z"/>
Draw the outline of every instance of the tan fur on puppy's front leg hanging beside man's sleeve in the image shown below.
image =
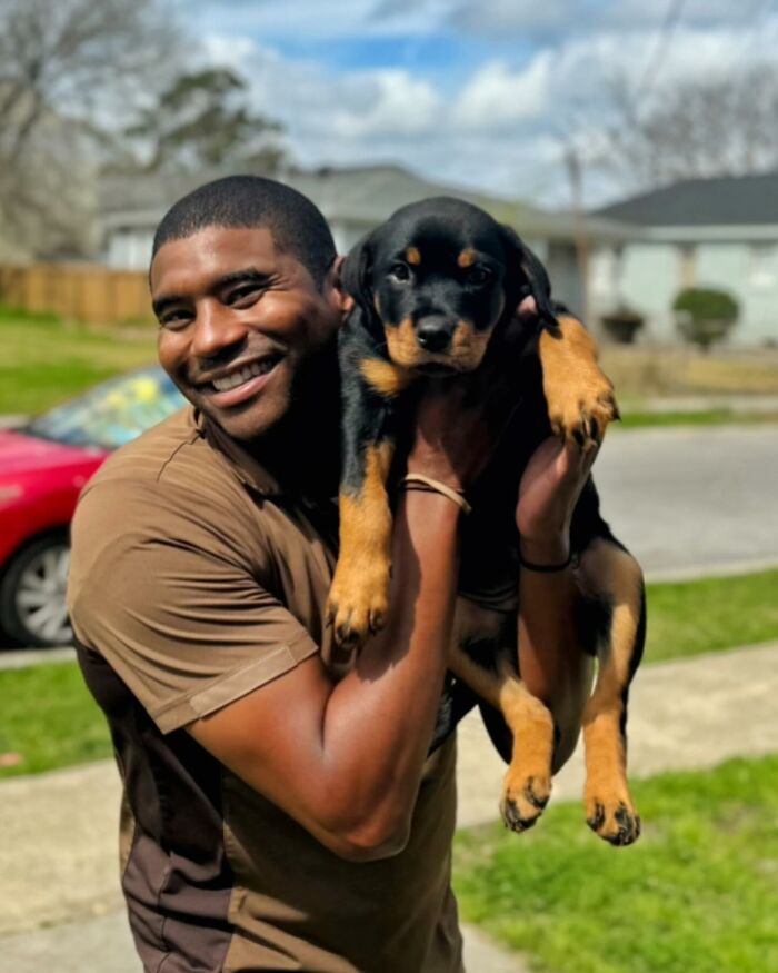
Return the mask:
<path id="1" fill-rule="evenodd" d="M 360 492 L 338 497 L 340 555 L 328 605 L 338 642 L 360 643 L 386 618 L 392 523 L 386 480 L 392 454 L 389 441 L 368 447 Z"/>

